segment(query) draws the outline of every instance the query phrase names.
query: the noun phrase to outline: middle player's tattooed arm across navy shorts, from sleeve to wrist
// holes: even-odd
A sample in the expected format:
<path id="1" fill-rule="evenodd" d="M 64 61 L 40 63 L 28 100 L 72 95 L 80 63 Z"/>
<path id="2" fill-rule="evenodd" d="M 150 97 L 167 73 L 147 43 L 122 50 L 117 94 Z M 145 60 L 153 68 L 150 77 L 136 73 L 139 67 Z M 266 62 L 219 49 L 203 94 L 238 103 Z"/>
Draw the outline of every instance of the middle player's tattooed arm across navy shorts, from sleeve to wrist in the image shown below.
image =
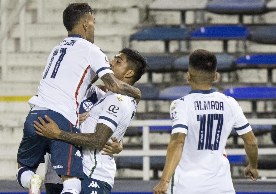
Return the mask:
<path id="1" fill-rule="evenodd" d="M 98 123 L 95 133 L 70 133 L 62 131 L 58 139 L 73 145 L 100 150 L 112 134 L 113 131 L 107 125 Z"/>

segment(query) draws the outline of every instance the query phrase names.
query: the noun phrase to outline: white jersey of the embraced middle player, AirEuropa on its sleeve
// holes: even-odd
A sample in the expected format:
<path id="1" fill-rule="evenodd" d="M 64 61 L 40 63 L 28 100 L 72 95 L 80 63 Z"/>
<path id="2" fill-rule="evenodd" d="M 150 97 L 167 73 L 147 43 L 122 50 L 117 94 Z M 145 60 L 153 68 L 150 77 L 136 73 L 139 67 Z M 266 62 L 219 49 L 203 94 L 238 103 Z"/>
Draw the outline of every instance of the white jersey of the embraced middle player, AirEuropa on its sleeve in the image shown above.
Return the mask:
<path id="1" fill-rule="evenodd" d="M 108 91 L 92 106 L 89 117 L 81 124 L 80 131 L 94 133 L 97 123 L 103 123 L 112 129 L 111 137 L 116 137 L 120 141 L 131 123 L 136 108 L 134 98 Z M 108 141 L 112 142 L 111 138 Z M 113 187 L 116 164 L 113 155 L 101 155 L 102 152 L 83 147 L 83 171 L 88 177 L 105 181 Z"/>

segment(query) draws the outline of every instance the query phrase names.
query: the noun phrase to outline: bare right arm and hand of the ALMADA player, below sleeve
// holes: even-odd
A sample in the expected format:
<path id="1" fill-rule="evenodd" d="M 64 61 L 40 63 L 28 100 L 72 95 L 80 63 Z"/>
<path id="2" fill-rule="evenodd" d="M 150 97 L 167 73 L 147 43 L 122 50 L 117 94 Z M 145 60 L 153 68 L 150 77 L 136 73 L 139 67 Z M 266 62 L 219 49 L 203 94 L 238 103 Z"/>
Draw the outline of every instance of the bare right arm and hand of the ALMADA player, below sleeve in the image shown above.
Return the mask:
<path id="1" fill-rule="evenodd" d="M 245 176 L 249 176 L 252 180 L 258 179 L 258 143 L 252 131 L 240 135 L 244 142 L 244 149 L 248 157 L 249 164 L 245 168 Z"/>

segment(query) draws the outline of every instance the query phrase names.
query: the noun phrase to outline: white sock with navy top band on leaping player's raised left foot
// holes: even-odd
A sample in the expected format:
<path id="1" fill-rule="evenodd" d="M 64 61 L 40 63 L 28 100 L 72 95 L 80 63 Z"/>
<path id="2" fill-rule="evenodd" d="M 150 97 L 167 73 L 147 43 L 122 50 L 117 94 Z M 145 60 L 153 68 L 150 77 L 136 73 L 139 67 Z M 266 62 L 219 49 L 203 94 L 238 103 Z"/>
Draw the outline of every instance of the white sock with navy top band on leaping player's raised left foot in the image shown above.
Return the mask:
<path id="1" fill-rule="evenodd" d="M 31 177 L 34 174 L 31 168 L 23 166 L 17 170 L 16 180 L 21 187 L 30 188 Z"/>

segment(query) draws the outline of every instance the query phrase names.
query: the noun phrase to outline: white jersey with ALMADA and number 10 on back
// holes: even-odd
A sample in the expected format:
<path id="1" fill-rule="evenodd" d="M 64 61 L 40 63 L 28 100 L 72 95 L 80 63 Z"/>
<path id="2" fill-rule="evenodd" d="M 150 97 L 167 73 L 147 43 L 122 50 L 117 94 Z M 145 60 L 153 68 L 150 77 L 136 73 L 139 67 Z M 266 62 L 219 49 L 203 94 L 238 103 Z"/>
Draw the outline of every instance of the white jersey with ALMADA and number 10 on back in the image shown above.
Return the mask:
<path id="1" fill-rule="evenodd" d="M 237 101 L 215 90 L 193 90 L 171 103 L 170 116 L 172 134 L 187 136 L 168 193 L 235 193 L 225 145 L 233 127 L 239 135 L 252 130 Z"/>

